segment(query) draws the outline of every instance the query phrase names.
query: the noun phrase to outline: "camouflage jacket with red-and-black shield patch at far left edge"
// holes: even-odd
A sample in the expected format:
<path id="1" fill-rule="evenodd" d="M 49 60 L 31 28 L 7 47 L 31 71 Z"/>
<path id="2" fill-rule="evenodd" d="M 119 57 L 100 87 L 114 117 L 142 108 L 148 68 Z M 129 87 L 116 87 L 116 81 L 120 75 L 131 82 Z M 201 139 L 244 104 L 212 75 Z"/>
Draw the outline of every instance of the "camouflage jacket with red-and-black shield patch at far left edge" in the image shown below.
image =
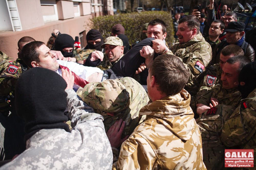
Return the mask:
<path id="1" fill-rule="evenodd" d="M 13 62 L 8 61 L 8 65 L 3 68 L 3 72 L 0 75 L 0 112 L 9 113 L 9 103 L 6 98 L 13 97 L 17 78 L 27 69 L 26 64 L 19 58 Z M 8 100 L 12 100 L 12 97 Z"/>

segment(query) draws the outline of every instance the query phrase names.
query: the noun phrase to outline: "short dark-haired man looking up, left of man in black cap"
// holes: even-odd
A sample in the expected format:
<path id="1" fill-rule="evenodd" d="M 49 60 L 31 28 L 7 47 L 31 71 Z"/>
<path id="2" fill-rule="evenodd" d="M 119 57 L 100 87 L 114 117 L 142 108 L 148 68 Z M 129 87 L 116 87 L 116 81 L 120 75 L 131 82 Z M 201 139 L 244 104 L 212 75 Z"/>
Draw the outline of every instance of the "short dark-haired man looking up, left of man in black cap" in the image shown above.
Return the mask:
<path id="1" fill-rule="evenodd" d="M 211 45 L 211 49 L 214 49 L 217 44 L 220 43 L 219 35 L 223 33 L 225 24 L 221 20 L 214 20 L 209 28 L 209 36 L 205 38 L 205 41 Z"/>

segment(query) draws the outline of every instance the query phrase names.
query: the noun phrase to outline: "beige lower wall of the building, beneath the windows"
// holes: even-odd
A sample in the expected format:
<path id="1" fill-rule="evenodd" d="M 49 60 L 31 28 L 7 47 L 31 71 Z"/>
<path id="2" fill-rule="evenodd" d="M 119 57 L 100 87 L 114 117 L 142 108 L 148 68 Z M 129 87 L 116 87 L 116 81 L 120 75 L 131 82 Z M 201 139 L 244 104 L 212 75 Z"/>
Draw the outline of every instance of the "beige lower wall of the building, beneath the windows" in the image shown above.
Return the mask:
<path id="1" fill-rule="evenodd" d="M 42 41 L 46 44 L 51 36 L 51 32 L 54 29 L 58 29 L 61 33 L 69 34 L 75 39 L 75 36 L 79 36 L 79 33 L 86 29 L 84 25 L 87 25 L 89 18 L 91 18 L 91 15 L 76 17 L 64 21 L 59 20 L 49 22 L 46 23 L 44 26 L 24 31 L 0 32 L 0 51 L 3 51 L 9 57 L 12 57 L 13 60 L 16 60 L 16 58 L 18 57 L 17 43 L 20 38 L 24 36 L 30 36 L 33 37 L 35 40 Z"/>

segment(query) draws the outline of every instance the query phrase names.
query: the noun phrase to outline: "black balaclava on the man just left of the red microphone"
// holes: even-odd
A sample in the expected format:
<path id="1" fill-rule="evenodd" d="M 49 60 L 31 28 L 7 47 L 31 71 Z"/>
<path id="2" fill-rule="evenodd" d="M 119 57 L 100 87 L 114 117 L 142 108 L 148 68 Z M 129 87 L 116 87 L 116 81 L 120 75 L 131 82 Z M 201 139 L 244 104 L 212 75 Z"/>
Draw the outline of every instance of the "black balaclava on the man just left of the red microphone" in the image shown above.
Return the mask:
<path id="1" fill-rule="evenodd" d="M 60 34 L 57 36 L 54 42 L 54 48 L 57 51 L 61 51 L 64 57 L 74 57 L 73 50 L 71 52 L 64 52 L 62 51 L 66 47 L 71 47 L 74 49 L 74 39 L 68 34 Z"/>

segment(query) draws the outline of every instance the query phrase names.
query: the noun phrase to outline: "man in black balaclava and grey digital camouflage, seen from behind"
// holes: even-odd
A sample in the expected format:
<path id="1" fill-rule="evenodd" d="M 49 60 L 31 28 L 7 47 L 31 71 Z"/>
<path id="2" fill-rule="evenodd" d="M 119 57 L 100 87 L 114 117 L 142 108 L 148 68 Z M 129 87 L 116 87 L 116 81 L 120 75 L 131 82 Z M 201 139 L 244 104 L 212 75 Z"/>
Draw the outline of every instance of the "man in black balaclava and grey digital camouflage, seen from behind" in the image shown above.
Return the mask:
<path id="1" fill-rule="evenodd" d="M 27 148 L 0 169 L 111 169 L 113 156 L 103 117 L 77 98 L 71 71 L 63 70 L 62 77 L 40 67 L 20 76 L 15 102 L 26 123 Z M 67 106 L 71 131 L 63 114 Z"/>

